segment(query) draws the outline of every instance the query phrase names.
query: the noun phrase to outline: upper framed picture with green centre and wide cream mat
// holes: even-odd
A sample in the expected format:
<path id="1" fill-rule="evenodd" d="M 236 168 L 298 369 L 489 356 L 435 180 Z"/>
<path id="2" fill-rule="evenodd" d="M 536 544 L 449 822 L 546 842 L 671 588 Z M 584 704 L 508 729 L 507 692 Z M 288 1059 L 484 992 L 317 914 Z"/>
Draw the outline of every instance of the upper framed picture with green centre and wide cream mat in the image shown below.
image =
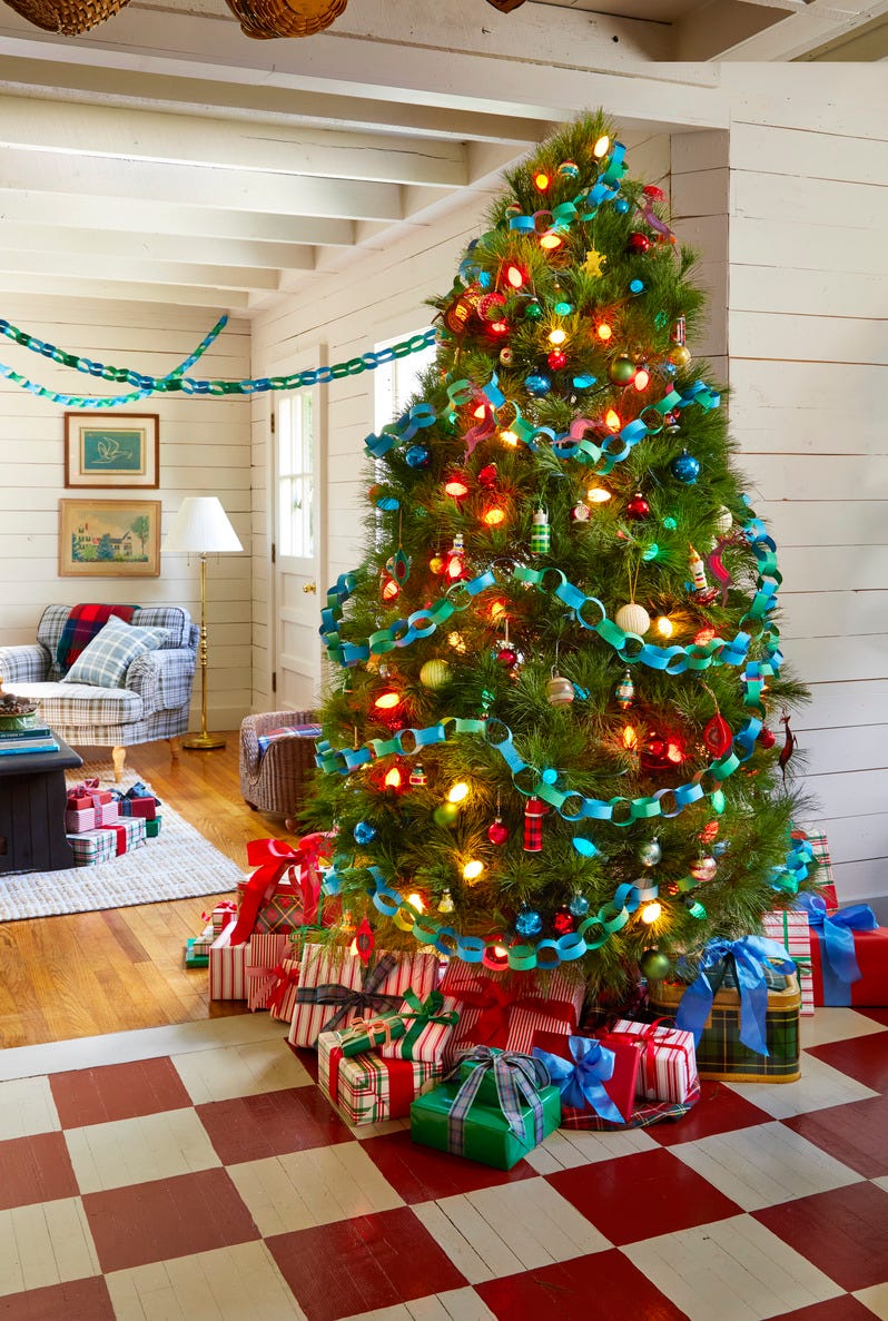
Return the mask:
<path id="1" fill-rule="evenodd" d="M 65 485 L 123 487 L 160 483 L 157 413 L 65 413 Z"/>

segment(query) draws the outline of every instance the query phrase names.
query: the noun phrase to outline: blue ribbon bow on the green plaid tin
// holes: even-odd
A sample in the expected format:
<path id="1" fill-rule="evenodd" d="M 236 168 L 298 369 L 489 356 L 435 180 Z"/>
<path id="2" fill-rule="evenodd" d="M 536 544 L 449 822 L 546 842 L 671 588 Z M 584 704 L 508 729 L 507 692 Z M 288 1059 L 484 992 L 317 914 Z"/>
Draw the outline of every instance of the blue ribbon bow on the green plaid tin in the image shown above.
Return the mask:
<path id="1" fill-rule="evenodd" d="M 740 992 L 740 1041 L 758 1055 L 769 1054 L 765 1041 L 765 1018 L 768 1015 L 768 983 L 765 963 L 776 972 L 789 975 L 796 971 L 796 963 L 777 941 L 764 935 L 744 935 L 739 941 L 710 941 L 703 950 L 700 971 L 696 982 L 691 982 L 682 996 L 675 1015 L 675 1026 L 694 1033 L 694 1044 L 699 1045 L 703 1024 L 712 1012 L 716 987 L 708 974 L 731 962 L 736 968 L 737 991 Z"/>

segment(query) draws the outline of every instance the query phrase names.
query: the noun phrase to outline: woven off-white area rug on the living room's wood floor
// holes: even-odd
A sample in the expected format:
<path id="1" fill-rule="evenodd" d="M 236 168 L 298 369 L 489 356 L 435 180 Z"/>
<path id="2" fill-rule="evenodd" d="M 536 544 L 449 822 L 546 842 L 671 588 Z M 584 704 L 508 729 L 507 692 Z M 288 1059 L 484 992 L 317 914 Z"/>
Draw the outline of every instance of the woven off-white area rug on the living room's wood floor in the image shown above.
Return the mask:
<path id="1" fill-rule="evenodd" d="M 81 766 L 71 783 L 91 777 L 114 785 L 111 765 L 102 762 Z M 126 790 L 137 779 L 135 773 L 124 771 L 118 787 Z M 112 861 L 0 876 L 0 921 L 222 894 L 243 880 L 246 857 L 243 868 L 238 867 L 168 803 L 161 806 L 161 815 L 160 835 Z"/>

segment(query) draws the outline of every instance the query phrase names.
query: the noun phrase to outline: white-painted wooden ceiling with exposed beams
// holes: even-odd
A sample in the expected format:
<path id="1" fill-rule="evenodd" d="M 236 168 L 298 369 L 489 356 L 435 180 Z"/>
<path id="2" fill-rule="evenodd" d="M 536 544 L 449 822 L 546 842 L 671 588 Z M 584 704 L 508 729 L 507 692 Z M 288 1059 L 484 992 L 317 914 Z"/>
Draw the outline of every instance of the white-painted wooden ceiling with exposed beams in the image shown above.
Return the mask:
<path id="1" fill-rule="evenodd" d="M 723 127 L 715 61 L 880 59 L 887 37 L 888 0 L 350 0 L 266 42 L 223 0 L 131 0 L 77 38 L 0 4 L 0 292 L 250 314 L 579 106 Z"/>

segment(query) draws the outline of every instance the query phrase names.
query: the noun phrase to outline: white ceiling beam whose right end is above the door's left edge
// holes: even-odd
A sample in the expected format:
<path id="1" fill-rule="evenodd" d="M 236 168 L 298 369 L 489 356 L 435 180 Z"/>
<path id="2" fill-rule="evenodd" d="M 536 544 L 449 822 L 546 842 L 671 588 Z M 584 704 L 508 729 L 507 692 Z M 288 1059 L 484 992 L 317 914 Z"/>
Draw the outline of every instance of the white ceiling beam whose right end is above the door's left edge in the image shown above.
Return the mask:
<path id="1" fill-rule="evenodd" d="M 12 252 L 0 248 L 0 277 L 12 275 L 77 275 L 131 284 L 206 284 L 217 289 L 278 289 L 278 271 L 254 271 L 243 266 L 189 266 L 186 262 L 141 262 L 130 256 L 67 252 Z"/>

